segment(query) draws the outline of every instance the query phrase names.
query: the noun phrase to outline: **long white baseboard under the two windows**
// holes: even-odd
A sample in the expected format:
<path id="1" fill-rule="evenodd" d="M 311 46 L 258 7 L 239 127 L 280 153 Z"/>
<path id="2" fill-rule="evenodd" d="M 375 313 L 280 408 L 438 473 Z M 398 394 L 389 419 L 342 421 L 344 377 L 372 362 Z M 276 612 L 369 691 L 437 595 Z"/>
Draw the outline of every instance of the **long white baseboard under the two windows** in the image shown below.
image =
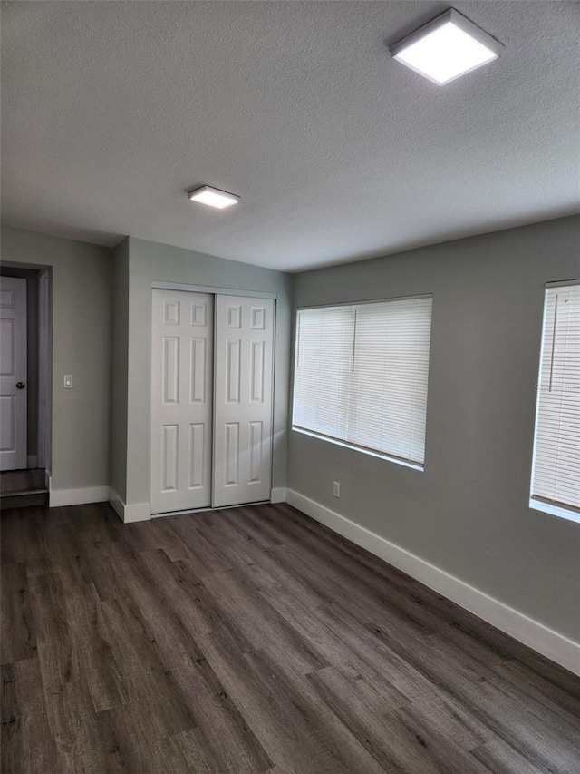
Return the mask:
<path id="1" fill-rule="evenodd" d="M 371 554 L 392 564 L 403 573 L 411 575 L 430 589 L 443 594 L 449 600 L 473 612 L 479 618 L 506 632 L 529 648 L 546 656 L 565 669 L 580 675 L 580 643 L 569 640 L 562 634 L 548 629 L 543 623 L 528 618 L 507 604 L 488 596 L 464 583 L 453 575 L 436 567 L 419 556 L 411 554 L 399 545 L 390 543 L 381 535 L 355 524 L 350 519 L 315 503 L 309 497 L 286 489 L 286 502 L 304 514 L 312 516 L 338 534 L 362 546 Z"/>

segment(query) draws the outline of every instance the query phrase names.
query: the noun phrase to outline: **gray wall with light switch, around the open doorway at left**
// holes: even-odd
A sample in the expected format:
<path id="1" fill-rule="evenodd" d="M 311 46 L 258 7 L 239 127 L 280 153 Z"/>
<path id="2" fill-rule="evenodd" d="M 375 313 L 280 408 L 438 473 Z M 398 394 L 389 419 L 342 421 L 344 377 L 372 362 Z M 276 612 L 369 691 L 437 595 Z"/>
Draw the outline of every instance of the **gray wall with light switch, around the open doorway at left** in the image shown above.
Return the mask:
<path id="1" fill-rule="evenodd" d="M 109 485 L 111 250 L 7 226 L 1 237 L 3 260 L 52 269 L 53 490 Z"/>

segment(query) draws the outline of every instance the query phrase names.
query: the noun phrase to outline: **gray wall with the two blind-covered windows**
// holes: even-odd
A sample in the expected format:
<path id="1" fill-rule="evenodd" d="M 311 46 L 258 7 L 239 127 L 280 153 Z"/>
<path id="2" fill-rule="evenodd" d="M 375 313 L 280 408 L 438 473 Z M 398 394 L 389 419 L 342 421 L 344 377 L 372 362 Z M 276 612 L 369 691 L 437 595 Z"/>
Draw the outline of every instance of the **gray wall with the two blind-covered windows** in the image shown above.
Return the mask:
<path id="1" fill-rule="evenodd" d="M 544 285 L 579 276 L 578 217 L 298 275 L 296 306 L 433 294 L 426 461 L 292 431 L 288 457 L 290 488 L 576 642 L 580 524 L 527 504 Z"/>

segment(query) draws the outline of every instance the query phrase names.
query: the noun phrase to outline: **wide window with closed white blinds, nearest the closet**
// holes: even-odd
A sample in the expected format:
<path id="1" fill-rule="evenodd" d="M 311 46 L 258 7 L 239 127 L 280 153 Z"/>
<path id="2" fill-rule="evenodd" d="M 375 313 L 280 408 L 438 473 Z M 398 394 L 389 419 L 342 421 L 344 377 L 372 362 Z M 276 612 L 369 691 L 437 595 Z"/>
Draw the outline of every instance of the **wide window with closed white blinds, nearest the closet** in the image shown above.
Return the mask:
<path id="1" fill-rule="evenodd" d="M 422 469 L 432 297 L 299 309 L 292 426 Z"/>

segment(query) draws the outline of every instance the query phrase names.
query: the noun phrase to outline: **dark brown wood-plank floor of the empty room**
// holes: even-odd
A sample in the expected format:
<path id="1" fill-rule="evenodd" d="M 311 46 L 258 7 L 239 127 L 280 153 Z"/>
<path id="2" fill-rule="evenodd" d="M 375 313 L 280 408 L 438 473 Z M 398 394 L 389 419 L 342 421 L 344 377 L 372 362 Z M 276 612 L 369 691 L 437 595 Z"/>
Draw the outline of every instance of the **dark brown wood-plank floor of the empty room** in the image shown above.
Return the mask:
<path id="1" fill-rule="evenodd" d="M 6 774 L 580 772 L 580 679 L 288 505 L 2 528 Z"/>

